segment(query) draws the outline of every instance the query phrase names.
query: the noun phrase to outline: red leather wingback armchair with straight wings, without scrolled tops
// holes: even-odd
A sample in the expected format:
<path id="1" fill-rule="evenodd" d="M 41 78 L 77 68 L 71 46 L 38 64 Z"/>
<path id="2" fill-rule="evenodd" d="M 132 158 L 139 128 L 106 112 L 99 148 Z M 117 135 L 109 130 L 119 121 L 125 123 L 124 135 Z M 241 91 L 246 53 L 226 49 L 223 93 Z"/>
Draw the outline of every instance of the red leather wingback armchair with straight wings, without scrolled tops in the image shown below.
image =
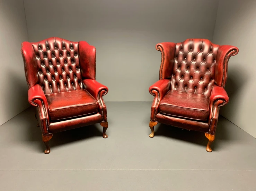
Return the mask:
<path id="1" fill-rule="evenodd" d="M 96 49 L 85 41 L 48 38 L 23 42 L 28 101 L 36 107 L 45 154 L 52 133 L 100 123 L 107 138 L 108 88 L 96 81 Z"/>

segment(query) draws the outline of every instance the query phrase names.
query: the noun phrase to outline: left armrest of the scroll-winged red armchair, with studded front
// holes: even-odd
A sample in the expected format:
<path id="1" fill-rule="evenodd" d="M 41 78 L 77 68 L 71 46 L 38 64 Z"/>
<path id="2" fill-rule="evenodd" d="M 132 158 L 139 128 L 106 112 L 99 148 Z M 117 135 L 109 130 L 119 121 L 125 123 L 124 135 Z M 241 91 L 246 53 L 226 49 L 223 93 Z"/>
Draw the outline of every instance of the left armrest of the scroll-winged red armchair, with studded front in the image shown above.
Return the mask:
<path id="1" fill-rule="evenodd" d="M 170 89 L 171 81 L 169 79 L 159 80 L 149 87 L 149 93 L 154 96 L 151 107 L 150 120 L 156 121 L 156 114 L 159 112 L 159 103 Z"/>

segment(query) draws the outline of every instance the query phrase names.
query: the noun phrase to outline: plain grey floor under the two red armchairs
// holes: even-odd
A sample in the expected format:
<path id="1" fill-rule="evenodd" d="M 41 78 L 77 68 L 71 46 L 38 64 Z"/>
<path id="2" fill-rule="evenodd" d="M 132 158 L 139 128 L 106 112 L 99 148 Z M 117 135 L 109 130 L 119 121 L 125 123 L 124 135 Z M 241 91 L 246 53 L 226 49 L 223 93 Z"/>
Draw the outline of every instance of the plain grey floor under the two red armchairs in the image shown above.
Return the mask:
<path id="1" fill-rule="evenodd" d="M 56 133 L 43 153 L 34 108 L 0 127 L 0 190 L 256 190 L 256 139 L 220 117 L 213 152 L 203 133 L 158 124 L 150 102 L 107 102 L 99 124 Z"/>

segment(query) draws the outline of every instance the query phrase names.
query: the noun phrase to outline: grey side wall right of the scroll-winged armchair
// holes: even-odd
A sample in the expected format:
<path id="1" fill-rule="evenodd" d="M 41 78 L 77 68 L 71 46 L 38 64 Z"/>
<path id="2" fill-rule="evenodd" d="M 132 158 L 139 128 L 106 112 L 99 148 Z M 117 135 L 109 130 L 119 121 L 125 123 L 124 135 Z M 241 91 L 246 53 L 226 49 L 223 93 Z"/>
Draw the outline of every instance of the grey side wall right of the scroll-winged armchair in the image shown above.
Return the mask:
<path id="1" fill-rule="evenodd" d="M 221 115 L 256 138 L 255 18 L 255 0 L 221 0 L 213 42 L 239 48 L 229 61 L 226 91 L 230 102 L 221 108 Z"/>

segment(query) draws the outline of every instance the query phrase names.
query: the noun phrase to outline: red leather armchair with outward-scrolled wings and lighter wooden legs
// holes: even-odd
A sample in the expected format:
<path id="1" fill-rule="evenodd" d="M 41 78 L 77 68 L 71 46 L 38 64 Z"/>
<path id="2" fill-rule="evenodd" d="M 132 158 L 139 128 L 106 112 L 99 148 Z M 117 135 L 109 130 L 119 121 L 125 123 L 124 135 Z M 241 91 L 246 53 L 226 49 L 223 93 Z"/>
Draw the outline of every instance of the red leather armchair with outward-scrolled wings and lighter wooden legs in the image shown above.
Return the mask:
<path id="1" fill-rule="evenodd" d="M 238 48 L 213 44 L 206 39 L 187 39 L 181 43 L 162 42 L 159 81 L 149 88 L 154 96 L 149 127 L 160 122 L 205 132 L 211 152 L 219 109 L 229 101 L 224 90 L 228 61 Z"/>

